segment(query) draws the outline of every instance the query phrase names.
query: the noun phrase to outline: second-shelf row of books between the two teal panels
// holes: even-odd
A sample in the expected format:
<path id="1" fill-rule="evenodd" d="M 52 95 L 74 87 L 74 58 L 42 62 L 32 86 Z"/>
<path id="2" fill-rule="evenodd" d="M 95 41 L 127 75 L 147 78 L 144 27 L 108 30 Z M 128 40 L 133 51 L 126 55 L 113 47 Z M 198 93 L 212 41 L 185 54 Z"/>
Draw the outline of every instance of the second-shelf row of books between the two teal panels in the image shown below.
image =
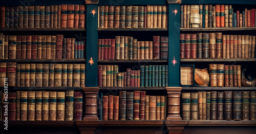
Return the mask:
<path id="1" fill-rule="evenodd" d="M 98 39 L 98 60 L 168 59 L 168 37 L 153 36 L 153 41 L 138 41 L 129 36 Z"/>

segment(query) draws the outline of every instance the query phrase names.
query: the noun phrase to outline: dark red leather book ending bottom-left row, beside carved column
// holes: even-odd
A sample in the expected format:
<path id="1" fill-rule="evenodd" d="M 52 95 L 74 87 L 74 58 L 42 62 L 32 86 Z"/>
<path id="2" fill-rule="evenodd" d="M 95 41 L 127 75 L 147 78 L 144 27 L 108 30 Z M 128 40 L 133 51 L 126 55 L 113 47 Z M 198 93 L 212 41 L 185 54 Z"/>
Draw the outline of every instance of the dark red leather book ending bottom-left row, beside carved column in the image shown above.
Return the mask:
<path id="1" fill-rule="evenodd" d="M 74 120 L 82 120 L 82 95 L 81 91 L 74 92 Z"/>

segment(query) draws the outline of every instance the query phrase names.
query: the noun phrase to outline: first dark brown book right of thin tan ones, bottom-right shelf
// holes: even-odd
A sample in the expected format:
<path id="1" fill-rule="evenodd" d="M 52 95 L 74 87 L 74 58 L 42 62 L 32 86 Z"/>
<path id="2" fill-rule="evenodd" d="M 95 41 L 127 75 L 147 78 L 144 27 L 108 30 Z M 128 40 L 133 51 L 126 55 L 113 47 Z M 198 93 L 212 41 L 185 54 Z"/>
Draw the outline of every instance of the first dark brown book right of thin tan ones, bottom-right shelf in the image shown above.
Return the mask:
<path id="1" fill-rule="evenodd" d="M 217 91 L 210 93 L 210 120 L 217 120 Z"/>

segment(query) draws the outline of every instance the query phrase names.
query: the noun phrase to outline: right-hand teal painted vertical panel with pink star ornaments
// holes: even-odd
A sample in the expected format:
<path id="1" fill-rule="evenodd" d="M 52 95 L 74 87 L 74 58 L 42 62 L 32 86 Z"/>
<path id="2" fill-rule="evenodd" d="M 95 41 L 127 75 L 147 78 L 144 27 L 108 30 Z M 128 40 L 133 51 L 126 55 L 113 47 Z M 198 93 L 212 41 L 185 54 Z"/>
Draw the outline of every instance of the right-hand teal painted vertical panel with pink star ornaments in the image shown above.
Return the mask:
<path id="1" fill-rule="evenodd" d="M 180 87 L 180 4 L 169 4 L 168 11 L 168 87 Z"/>

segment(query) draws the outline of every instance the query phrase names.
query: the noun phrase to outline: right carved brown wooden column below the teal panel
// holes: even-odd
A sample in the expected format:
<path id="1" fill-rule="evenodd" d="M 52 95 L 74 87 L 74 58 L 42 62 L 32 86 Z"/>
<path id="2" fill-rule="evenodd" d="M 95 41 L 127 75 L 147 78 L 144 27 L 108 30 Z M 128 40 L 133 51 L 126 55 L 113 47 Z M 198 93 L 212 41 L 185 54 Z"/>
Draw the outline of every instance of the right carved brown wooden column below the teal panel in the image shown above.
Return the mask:
<path id="1" fill-rule="evenodd" d="M 180 92 L 181 87 L 166 87 L 167 90 L 167 118 L 166 120 L 181 120 Z"/>

